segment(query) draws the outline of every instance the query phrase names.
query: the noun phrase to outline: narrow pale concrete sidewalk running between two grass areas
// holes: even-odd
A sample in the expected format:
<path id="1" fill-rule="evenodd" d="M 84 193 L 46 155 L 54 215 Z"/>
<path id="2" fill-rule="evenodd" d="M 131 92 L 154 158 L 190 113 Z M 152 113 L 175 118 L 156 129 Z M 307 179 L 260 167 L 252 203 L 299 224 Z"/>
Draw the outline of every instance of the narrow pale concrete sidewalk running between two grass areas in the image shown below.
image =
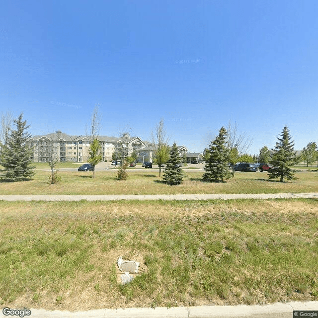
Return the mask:
<path id="1" fill-rule="evenodd" d="M 104 194 L 104 195 L 0 195 L 3 201 L 114 201 L 114 200 L 232 200 L 232 199 L 277 199 L 277 198 L 314 198 L 317 192 L 311 193 L 239 193 L 239 194 Z"/>

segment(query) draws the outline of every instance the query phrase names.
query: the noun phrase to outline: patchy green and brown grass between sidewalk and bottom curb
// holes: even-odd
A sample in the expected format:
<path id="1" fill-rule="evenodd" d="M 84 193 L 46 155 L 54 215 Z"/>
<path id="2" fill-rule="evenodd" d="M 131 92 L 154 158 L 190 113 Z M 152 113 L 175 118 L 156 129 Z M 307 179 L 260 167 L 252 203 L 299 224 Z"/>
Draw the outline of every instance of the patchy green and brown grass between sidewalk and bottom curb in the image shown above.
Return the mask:
<path id="1" fill-rule="evenodd" d="M 318 300 L 318 201 L 0 201 L 0 305 Z M 119 256 L 142 273 L 117 283 Z"/>

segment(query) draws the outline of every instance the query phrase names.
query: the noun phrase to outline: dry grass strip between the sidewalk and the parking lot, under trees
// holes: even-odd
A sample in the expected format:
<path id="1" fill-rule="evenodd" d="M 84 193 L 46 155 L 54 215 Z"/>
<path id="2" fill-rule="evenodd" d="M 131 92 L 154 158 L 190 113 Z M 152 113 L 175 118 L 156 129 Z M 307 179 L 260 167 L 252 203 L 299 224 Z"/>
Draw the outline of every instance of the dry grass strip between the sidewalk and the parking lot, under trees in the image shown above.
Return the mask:
<path id="1" fill-rule="evenodd" d="M 203 172 L 187 171 L 184 182 L 168 186 L 156 171 L 128 171 L 128 180 L 115 180 L 116 171 L 62 172 L 62 182 L 48 184 L 50 172 L 37 171 L 34 179 L 0 183 L 1 194 L 207 194 L 207 193 L 279 193 L 318 192 L 317 172 L 296 172 L 296 181 L 268 180 L 266 172 L 236 172 L 225 183 L 202 182 Z"/>

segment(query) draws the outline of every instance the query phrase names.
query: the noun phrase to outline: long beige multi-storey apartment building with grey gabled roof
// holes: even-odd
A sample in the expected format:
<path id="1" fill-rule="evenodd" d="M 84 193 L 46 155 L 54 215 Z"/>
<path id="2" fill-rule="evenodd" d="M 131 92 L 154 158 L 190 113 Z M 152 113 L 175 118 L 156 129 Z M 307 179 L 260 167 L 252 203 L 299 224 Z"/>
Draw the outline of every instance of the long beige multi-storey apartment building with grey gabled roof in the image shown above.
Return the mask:
<path id="1" fill-rule="evenodd" d="M 123 134 L 122 137 L 96 137 L 101 145 L 102 161 L 111 161 L 113 153 L 124 152 L 125 157 L 134 151 L 139 154 L 148 142 L 139 137 Z M 32 136 L 29 147 L 33 150 L 34 162 L 48 162 L 50 158 L 59 161 L 84 162 L 88 159 L 88 150 L 91 142 L 90 136 L 72 136 L 61 131 L 47 135 Z"/>

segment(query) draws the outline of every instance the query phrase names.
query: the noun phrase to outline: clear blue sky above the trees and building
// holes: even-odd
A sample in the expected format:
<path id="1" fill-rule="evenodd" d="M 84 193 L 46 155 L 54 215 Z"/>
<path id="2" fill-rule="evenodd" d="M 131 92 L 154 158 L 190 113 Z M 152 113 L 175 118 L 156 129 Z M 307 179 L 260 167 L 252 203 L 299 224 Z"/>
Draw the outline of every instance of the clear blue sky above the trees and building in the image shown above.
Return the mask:
<path id="1" fill-rule="evenodd" d="M 318 1 L 1 1 L 0 112 L 30 133 L 126 127 L 201 152 L 229 120 L 275 146 L 318 142 Z"/>

